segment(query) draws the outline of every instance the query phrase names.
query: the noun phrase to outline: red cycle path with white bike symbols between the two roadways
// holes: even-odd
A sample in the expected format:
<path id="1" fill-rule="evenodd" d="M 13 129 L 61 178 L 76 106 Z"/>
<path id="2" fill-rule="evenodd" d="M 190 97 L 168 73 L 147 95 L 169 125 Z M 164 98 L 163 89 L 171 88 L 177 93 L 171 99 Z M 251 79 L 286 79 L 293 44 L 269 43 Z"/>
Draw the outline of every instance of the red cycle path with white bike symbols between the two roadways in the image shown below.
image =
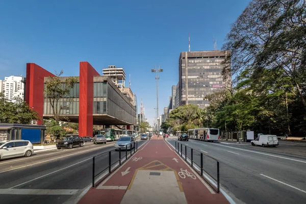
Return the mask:
<path id="1" fill-rule="evenodd" d="M 228 203 L 176 155 L 163 138 L 152 137 L 129 161 L 91 188 L 78 202 Z"/>

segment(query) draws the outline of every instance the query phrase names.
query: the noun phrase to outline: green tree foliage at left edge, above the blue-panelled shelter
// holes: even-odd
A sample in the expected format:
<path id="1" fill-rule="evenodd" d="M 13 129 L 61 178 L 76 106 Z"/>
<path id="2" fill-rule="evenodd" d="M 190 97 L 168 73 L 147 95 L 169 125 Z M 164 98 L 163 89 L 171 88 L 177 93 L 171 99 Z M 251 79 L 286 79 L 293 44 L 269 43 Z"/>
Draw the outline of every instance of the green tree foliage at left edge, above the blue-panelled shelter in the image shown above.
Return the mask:
<path id="1" fill-rule="evenodd" d="M 38 120 L 39 116 L 20 97 L 14 98 L 15 103 L 8 101 L 0 93 L 0 122 L 29 124 L 30 120 Z"/>

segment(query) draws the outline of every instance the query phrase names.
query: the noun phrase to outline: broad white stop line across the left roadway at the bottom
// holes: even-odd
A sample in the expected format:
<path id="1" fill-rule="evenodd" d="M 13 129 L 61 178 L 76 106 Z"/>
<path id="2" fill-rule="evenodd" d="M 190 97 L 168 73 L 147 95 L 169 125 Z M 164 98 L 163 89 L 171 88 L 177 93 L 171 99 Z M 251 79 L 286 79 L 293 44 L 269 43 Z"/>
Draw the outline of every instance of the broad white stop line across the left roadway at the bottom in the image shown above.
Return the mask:
<path id="1" fill-rule="evenodd" d="M 16 195 L 73 195 L 79 189 L 0 189 L 0 194 Z"/>

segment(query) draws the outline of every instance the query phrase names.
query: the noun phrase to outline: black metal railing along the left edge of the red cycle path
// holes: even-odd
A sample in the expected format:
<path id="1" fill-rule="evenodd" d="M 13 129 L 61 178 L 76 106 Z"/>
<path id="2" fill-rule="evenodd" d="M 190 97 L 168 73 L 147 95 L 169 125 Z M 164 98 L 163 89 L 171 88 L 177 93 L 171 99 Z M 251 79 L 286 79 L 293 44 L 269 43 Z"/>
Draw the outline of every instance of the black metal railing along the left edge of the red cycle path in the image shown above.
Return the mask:
<path id="1" fill-rule="evenodd" d="M 107 177 L 109 174 L 111 174 L 114 170 L 116 170 L 119 166 L 121 166 L 127 159 L 132 157 L 138 150 L 138 142 L 134 142 L 134 148 L 127 151 L 127 145 L 125 145 L 125 155 L 121 157 L 121 149 L 119 149 L 118 154 L 115 156 L 112 156 L 113 152 L 117 152 L 116 149 L 103 152 L 102 154 L 99 154 L 97 156 L 94 156 L 92 158 L 92 187 L 96 187 L 105 177 Z M 122 161 L 123 159 L 123 161 Z M 105 164 L 108 161 L 108 166 L 106 168 L 103 168 L 102 170 L 99 168 L 99 165 Z M 117 166 L 116 166 L 117 164 Z M 105 176 L 101 177 L 97 182 L 96 177 L 99 177 L 103 175 L 103 173 L 106 173 Z"/>

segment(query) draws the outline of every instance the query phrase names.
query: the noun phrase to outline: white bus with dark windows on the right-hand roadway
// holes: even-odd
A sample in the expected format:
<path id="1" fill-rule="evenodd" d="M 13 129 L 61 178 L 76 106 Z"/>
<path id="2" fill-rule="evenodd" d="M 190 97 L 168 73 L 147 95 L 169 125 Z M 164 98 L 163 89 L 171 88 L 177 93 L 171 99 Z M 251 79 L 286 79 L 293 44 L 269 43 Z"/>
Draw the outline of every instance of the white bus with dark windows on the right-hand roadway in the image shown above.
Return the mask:
<path id="1" fill-rule="evenodd" d="M 220 130 L 215 128 L 196 128 L 188 130 L 188 136 L 190 139 L 202 140 L 202 141 L 219 141 Z"/>

